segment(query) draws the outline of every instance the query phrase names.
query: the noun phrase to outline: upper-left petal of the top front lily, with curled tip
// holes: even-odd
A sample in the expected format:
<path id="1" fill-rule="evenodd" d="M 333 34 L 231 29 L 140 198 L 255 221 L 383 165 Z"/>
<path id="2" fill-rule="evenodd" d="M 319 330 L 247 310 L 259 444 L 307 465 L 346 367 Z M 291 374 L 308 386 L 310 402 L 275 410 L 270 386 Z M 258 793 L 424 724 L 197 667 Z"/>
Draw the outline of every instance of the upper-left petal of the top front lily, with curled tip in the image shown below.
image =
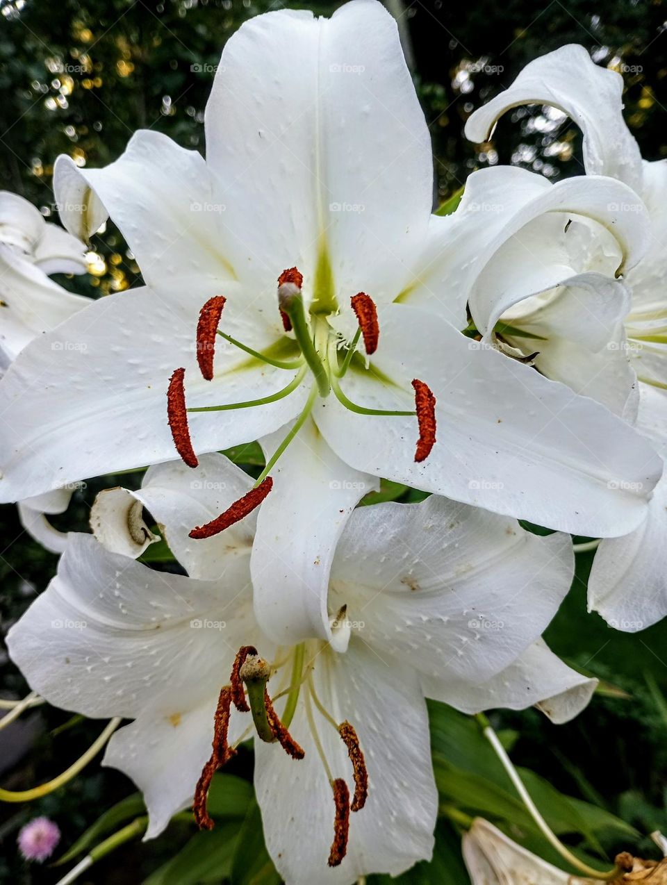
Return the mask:
<path id="1" fill-rule="evenodd" d="M 88 240 L 111 215 L 155 288 L 180 289 L 181 297 L 201 290 L 203 304 L 206 293 L 234 280 L 202 155 L 166 135 L 140 129 L 103 169 L 80 169 L 61 155 L 54 191 L 65 227 L 80 239 Z"/>

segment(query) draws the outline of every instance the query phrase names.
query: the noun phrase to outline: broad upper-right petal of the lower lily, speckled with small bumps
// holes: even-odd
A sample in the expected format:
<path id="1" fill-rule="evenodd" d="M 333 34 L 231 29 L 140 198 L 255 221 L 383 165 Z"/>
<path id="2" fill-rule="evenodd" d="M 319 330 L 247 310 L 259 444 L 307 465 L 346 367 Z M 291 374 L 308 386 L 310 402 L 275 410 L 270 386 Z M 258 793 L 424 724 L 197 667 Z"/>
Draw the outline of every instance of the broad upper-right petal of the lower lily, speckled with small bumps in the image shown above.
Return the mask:
<path id="1" fill-rule="evenodd" d="M 431 496 L 354 512 L 332 581 L 380 654 L 474 686 L 540 637 L 573 572 L 566 535 L 538 537 L 510 517 Z"/>

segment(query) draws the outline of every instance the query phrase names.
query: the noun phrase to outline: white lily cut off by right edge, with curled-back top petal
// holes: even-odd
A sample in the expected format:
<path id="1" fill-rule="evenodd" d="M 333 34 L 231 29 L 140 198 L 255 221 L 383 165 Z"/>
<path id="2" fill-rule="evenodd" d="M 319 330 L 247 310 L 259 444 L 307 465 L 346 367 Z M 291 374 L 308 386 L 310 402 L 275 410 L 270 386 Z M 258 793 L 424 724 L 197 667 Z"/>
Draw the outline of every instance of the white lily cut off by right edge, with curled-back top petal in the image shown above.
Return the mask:
<path id="1" fill-rule="evenodd" d="M 484 141 L 503 112 L 519 104 L 552 104 L 568 114 L 584 133 L 586 173 L 605 174 L 631 187 L 649 213 L 650 246 L 640 263 L 628 270 L 625 282 L 631 303 L 625 332 L 611 335 L 608 350 L 625 351 L 639 378 L 636 426 L 667 456 L 667 163 L 642 161 L 640 150 L 623 119 L 623 78 L 595 65 L 581 46 L 563 46 L 537 58 L 517 76 L 509 89 L 472 114 L 465 128 L 475 142 Z M 628 204 L 632 212 L 635 204 Z M 557 307 L 557 304 L 556 304 Z M 581 313 L 581 311 L 579 311 Z M 604 326 L 605 312 L 592 319 L 584 313 L 582 327 Z M 612 318 L 609 318 L 612 319 Z M 565 330 L 577 321 L 558 315 Z M 556 324 L 555 324 L 556 325 Z M 613 324 L 609 324 L 611 328 Z M 602 339 L 601 339 L 602 341 Z M 542 347 L 535 342 L 535 349 Z M 595 362 L 589 364 L 595 371 Z M 609 362 L 608 362 L 609 365 Z M 601 375 L 613 381 L 613 377 Z M 564 380 L 564 379 L 563 379 Z M 612 387 L 594 383 L 591 396 L 609 404 Z M 601 396 L 601 394 L 603 394 Z M 619 411 L 619 410 L 617 410 Z M 631 413 L 627 419 L 634 419 Z M 625 537 L 602 541 L 588 581 L 588 607 L 610 626 L 628 632 L 650 627 L 667 614 L 667 482 L 655 488 L 648 515 Z"/>

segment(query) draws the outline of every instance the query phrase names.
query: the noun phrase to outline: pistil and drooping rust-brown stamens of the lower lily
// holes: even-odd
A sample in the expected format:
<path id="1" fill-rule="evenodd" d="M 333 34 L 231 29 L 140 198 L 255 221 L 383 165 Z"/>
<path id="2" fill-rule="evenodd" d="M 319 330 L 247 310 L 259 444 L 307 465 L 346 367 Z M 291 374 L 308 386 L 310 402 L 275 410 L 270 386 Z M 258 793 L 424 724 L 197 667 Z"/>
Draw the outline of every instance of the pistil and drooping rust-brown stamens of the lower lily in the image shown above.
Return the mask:
<path id="1" fill-rule="evenodd" d="M 308 649 L 307 649 L 308 646 Z M 307 650 L 310 653 L 307 658 Z M 197 781 L 193 811 L 197 826 L 200 829 L 212 829 L 213 821 L 206 808 L 207 797 L 213 774 L 234 756 L 236 746 L 249 736 L 249 730 L 242 735 L 234 747 L 227 743 L 229 720 L 233 706 L 238 712 L 252 714 L 253 727 L 257 737 L 265 743 L 279 743 L 288 756 L 303 759 L 305 751 L 290 735 L 288 727 L 294 717 L 299 695 L 304 687 L 302 703 L 318 756 L 324 767 L 327 780 L 334 794 L 334 840 L 329 851 L 328 866 L 339 866 L 348 849 L 349 812 L 359 812 L 364 808 L 368 796 L 368 772 L 364 753 L 359 744 L 357 731 L 348 721 L 338 723 L 326 710 L 318 697 L 312 678 L 315 658 L 323 651 L 323 643 L 301 643 L 290 649 L 288 655 L 274 664 L 260 658 L 257 649 L 244 645 L 239 649 L 229 684 L 220 690 L 218 707 L 215 712 L 211 758 L 203 766 L 202 774 Z M 271 698 L 266 687 L 272 673 L 278 673 L 291 663 L 288 687 Z M 273 701 L 287 696 L 285 708 L 280 719 L 273 707 Z M 314 713 L 318 712 L 324 722 L 333 726 L 348 750 L 352 764 L 354 795 L 350 801 L 349 787 L 344 778 L 334 777 L 332 768 L 320 739 L 318 725 Z"/>

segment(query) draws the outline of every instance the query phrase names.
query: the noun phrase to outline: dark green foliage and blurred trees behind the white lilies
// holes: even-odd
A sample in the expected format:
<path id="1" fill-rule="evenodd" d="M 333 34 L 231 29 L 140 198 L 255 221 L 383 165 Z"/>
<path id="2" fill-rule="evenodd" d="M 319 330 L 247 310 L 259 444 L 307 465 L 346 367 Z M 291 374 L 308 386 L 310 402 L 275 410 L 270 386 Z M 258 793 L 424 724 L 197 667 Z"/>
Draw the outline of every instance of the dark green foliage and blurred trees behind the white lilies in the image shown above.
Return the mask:
<path id="1" fill-rule="evenodd" d="M 203 109 L 226 38 L 243 20 L 279 4 L 265 0 L 0 0 L 0 188 L 17 191 L 54 212 L 53 161 L 65 152 L 80 163 L 117 158 L 139 127 L 158 129 L 181 145 L 203 150 Z M 280 4 L 281 5 L 281 4 Z M 299 4 L 295 4 L 299 5 Z M 336 4 L 307 4 L 329 13 Z M 464 183 L 479 165 L 515 163 L 558 177 L 580 173 L 576 127 L 539 107 L 517 110 L 500 123 L 481 153 L 465 142 L 464 120 L 488 96 L 508 86 L 531 58 L 565 42 L 581 42 L 594 58 L 621 71 L 625 117 L 645 158 L 667 156 L 665 5 L 656 0 L 396 0 L 410 48 L 410 65 L 429 121 L 435 151 L 434 201 Z M 111 225 L 94 238 L 88 278 L 61 282 L 103 296 L 140 281 L 139 269 Z M 241 459 L 242 460 L 242 459 Z M 140 477 L 123 477 L 125 485 Z M 96 490 L 75 495 L 61 527 L 86 530 Z M 56 558 L 21 530 L 13 507 L 0 512 L 0 600 L 3 633 L 42 590 Z M 602 679 L 586 713 L 553 727 L 537 712 L 495 713 L 540 808 L 563 839 L 606 866 L 617 850 L 655 856 L 645 835 L 667 831 L 667 626 L 636 635 L 617 633 L 586 615 L 586 575 L 592 555 L 579 557 L 578 578 L 548 631 L 568 663 Z M 158 567 L 173 567 L 167 563 Z M 2 652 L 0 652 L 2 654 Z M 0 658 L 4 695 L 26 691 L 19 673 Z M 484 814 L 542 856 L 555 860 L 472 720 L 432 705 L 434 766 L 442 797 L 438 846 L 432 865 L 419 865 L 402 881 L 467 883 L 460 858 L 461 826 Z M 47 707 L 0 733 L 0 773 L 9 789 L 48 780 L 82 752 L 101 727 Z M 155 842 L 127 843 L 94 867 L 92 878 L 158 883 L 280 881 L 261 841 L 257 805 L 249 788 L 252 753 L 242 751 L 219 775 L 211 800 L 218 826 L 195 834 L 177 822 Z M 53 882 L 59 871 L 28 867 L 15 848 L 19 827 L 37 813 L 57 820 L 63 850 L 103 817 L 82 850 L 142 814 L 134 786 L 117 772 L 93 765 L 41 802 L 0 810 L 2 882 Z M 183 851 L 175 859 L 175 850 Z M 65 870 L 67 867 L 61 867 Z M 372 881 L 388 881 L 372 877 Z"/>

